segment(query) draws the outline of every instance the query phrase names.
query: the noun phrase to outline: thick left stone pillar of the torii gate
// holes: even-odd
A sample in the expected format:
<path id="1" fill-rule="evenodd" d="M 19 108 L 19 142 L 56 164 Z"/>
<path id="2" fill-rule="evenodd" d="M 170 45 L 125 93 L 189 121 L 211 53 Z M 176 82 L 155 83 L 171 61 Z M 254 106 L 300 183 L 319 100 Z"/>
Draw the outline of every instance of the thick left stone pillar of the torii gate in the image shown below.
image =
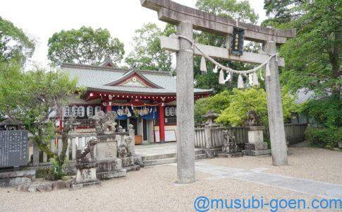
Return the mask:
<path id="1" fill-rule="evenodd" d="M 181 22 L 178 35 L 193 39 L 193 25 Z M 195 182 L 195 123 L 193 49 L 184 39 L 179 39 L 176 54 L 177 72 L 177 183 Z"/>

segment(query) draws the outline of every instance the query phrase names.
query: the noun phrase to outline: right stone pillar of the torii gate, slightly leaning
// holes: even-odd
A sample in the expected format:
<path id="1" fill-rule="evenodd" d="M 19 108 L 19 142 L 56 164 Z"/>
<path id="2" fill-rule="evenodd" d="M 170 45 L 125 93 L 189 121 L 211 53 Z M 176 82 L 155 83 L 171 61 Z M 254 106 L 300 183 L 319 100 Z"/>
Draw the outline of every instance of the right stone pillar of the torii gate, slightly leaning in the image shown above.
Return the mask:
<path id="1" fill-rule="evenodd" d="M 276 42 L 264 45 L 264 52 L 276 54 Z M 269 61 L 270 76 L 266 76 L 267 111 L 269 115 L 269 136 L 273 165 L 287 165 L 287 147 L 283 125 L 283 107 L 281 105 L 278 61 L 272 57 Z"/>

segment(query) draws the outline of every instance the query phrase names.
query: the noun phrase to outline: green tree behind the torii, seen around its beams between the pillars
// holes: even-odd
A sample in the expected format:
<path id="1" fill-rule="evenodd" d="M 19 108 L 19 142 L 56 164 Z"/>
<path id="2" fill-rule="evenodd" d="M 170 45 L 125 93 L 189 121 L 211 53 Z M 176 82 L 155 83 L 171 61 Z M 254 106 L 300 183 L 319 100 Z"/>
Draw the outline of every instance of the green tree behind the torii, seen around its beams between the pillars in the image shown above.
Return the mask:
<path id="1" fill-rule="evenodd" d="M 215 14 L 216 16 L 222 16 L 225 18 L 233 18 L 245 23 L 256 23 L 258 16 L 250 7 L 248 1 L 236 1 L 236 0 L 197 0 L 196 7 L 201 11 Z M 216 47 L 226 47 L 226 37 L 220 35 L 213 35 L 211 33 L 196 32 L 194 33 L 195 40 L 204 45 L 212 45 Z M 254 47 L 259 48 L 258 45 L 250 43 L 246 45 L 245 50 L 256 50 Z M 219 63 L 230 66 L 237 70 L 251 69 L 253 64 L 246 64 L 234 61 L 217 60 Z M 234 76 L 233 81 L 229 81 L 225 85 L 220 85 L 219 73 L 213 73 L 214 64 L 207 62 L 207 73 L 201 73 L 200 71 L 200 57 L 195 57 L 195 87 L 196 88 L 213 88 L 216 93 L 222 90 L 232 89 L 236 87 L 237 78 Z"/>

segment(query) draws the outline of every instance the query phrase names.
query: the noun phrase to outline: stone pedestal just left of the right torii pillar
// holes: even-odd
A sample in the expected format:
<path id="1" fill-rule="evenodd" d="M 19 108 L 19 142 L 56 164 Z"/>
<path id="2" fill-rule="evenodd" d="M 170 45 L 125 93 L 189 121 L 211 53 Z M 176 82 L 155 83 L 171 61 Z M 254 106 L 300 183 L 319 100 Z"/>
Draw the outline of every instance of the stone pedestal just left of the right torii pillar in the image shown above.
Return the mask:
<path id="1" fill-rule="evenodd" d="M 264 142 L 262 126 L 248 127 L 248 143 L 245 143 L 245 150 L 243 153 L 250 156 L 267 155 L 271 153 L 271 150 L 267 148 L 267 143 Z"/>

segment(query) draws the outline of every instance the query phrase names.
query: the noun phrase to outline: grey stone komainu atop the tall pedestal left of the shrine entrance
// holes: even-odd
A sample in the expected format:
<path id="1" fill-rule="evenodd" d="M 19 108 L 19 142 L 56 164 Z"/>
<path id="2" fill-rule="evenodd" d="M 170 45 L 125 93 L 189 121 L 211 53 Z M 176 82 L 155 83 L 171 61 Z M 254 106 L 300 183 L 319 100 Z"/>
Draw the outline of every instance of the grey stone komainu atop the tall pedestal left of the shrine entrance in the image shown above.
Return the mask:
<path id="1" fill-rule="evenodd" d="M 114 132 L 116 126 L 116 112 L 109 111 L 104 113 L 103 111 L 97 112 L 91 119 L 95 120 L 95 131 L 97 134 L 104 134 L 106 132 Z"/>

